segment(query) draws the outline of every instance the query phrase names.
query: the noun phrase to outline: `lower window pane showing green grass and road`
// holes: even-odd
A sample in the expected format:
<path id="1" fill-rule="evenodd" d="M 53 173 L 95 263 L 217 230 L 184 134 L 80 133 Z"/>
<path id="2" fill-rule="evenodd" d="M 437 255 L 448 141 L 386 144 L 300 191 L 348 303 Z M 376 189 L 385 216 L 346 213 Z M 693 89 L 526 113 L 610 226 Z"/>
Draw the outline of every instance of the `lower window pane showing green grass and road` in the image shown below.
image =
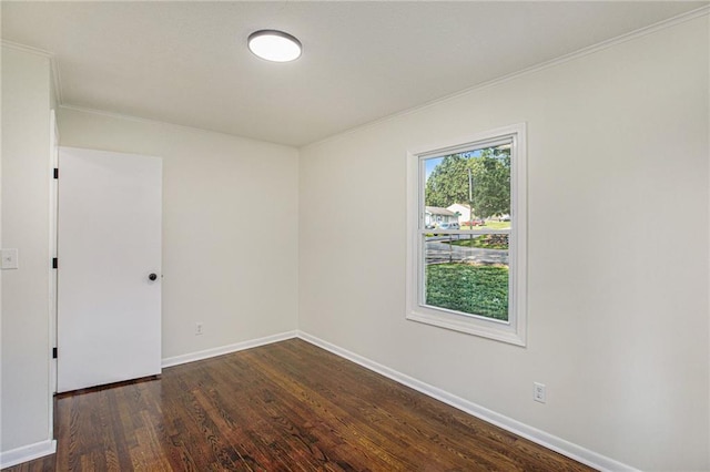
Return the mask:
<path id="1" fill-rule="evenodd" d="M 507 234 L 422 237 L 427 306 L 508 320 Z"/>

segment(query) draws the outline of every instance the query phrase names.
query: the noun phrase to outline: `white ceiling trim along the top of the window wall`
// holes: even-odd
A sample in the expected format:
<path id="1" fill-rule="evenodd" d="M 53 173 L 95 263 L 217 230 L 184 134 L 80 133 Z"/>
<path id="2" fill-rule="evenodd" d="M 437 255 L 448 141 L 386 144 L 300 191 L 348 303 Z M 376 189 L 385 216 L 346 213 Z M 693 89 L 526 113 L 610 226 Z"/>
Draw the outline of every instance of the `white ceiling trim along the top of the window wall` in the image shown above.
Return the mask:
<path id="1" fill-rule="evenodd" d="M 602 51 L 605 49 L 608 49 L 608 48 L 611 48 L 611 47 L 615 47 L 615 45 L 618 45 L 618 44 L 621 44 L 621 43 L 625 43 L 625 42 L 628 42 L 628 41 L 632 41 L 635 39 L 645 37 L 647 34 L 651 34 L 651 33 L 655 33 L 655 32 L 658 32 L 658 31 L 662 31 L 662 30 L 665 30 L 667 28 L 672 28 L 672 27 L 676 27 L 678 24 L 682 24 L 682 23 L 686 23 L 688 21 L 692 21 L 692 20 L 694 20 L 697 18 L 701 18 L 701 17 L 706 17 L 706 16 L 710 16 L 710 3 L 704 6 L 704 7 L 700 7 L 700 8 L 696 9 L 696 10 L 691 10 L 691 11 L 688 11 L 686 13 L 681 13 L 681 14 L 678 14 L 676 17 L 669 18 L 667 20 L 662 20 L 662 21 L 659 21 L 657 23 L 649 24 L 648 27 L 643 27 L 641 29 L 638 29 L 638 30 L 621 34 L 619 37 L 611 38 L 611 39 L 608 39 L 606 41 L 601 41 L 601 42 L 599 42 L 597 44 L 592 44 L 592 45 L 582 48 L 582 49 L 577 50 L 575 52 L 570 52 L 569 54 L 564 54 L 564 55 L 560 55 L 559 58 L 555 58 L 555 59 L 550 59 L 549 61 L 540 62 L 539 64 L 531 65 L 531 66 L 529 66 L 527 69 L 523 69 L 520 71 L 513 72 L 510 74 L 503 75 L 503 76 L 500 76 L 498 79 L 493 79 L 493 80 L 487 81 L 487 82 L 481 82 L 479 84 L 469 86 L 469 88 L 460 90 L 458 92 L 454 92 L 454 93 L 452 93 L 449 95 L 445 95 L 445 96 L 442 96 L 439 99 L 432 100 L 429 102 L 423 103 L 423 104 L 414 106 L 412 109 L 403 110 L 403 111 L 400 111 L 398 113 L 393 113 L 393 114 L 384 116 L 384 117 L 382 117 L 379 120 L 375 120 L 375 121 L 372 121 L 369 123 L 365 123 L 365 124 L 362 124 L 359 126 L 352 127 L 349 130 L 346 130 L 346 131 L 341 132 L 341 133 L 336 133 L 336 134 L 334 134 L 332 136 L 328 136 L 328 137 L 325 137 L 323 140 L 318 140 L 318 141 L 313 142 L 313 143 L 305 144 L 305 145 L 301 146 L 300 148 L 314 147 L 314 146 L 327 143 L 327 142 L 332 141 L 332 140 L 338 138 L 341 136 L 344 136 L 344 135 L 347 135 L 347 134 L 351 134 L 351 133 L 356 133 L 356 132 L 359 132 L 362 130 L 366 130 L 366 129 L 368 129 L 371 126 L 376 126 L 376 125 L 385 123 L 385 122 L 387 122 L 389 120 L 394 120 L 394 119 L 397 119 L 397 117 L 400 117 L 400 116 L 406 116 L 406 115 L 409 115 L 409 114 L 413 114 L 413 113 L 417 113 L 417 112 L 419 112 L 422 110 L 428 109 L 428 107 L 434 106 L 434 105 L 438 105 L 438 104 L 444 103 L 444 102 L 448 102 L 450 100 L 455 100 L 455 99 L 460 98 L 463 95 L 466 95 L 468 93 L 481 91 L 481 90 L 485 90 L 485 89 L 489 89 L 491 86 L 499 85 L 501 83 L 511 81 L 514 79 L 518 79 L 518 78 L 521 78 L 521 76 L 525 76 L 525 75 L 529 75 L 529 74 L 532 74 L 532 73 L 536 73 L 536 72 L 540 72 L 540 71 L 544 71 L 546 69 L 551 69 L 551 68 L 555 68 L 557 65 L 564 64 L 566 62 L 574 61 L 576 59 L 580 59 L 580 58 L 584 58 L 586 55 L 594 54 L 594 53 Z"/>

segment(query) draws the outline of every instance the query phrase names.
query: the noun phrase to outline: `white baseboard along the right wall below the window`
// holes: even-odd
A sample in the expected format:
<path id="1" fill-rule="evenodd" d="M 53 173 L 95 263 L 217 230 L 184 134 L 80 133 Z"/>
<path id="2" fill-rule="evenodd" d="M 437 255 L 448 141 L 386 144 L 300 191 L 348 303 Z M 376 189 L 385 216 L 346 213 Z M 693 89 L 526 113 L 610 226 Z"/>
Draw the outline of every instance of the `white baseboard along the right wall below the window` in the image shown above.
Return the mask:
<path id="1" fill-rule="evenodd" d="M 339 348 L 335 345 L 324 341 L 323 339 L 308 335 L 307 332 L 297 331 L 297 334 L 298 334 L 298 338 L 303 339 L 304 341 L 311 342 L 312 345 L 315 345 L 320 348 L 331 351 L 334 355 L 337 355 L 342 358 L 351 360 L 359 366 L 363 366 L 366 369 L 369 369 L 374 372 L 385 376 L 398 383 L 407 386 L 428 397 L 435 398 L 468 414 L 471 414 L 491 424 L 500 427 L 506 431 L 510 431 L 511 433 L 515 433 L 519 437 L 528 439 L 547 449 L 550 449 L 555 452 L 559 452 L 562 455 L 566 455 L 578 462 L 581 462 L 582 464 L 587 464 L 600 471 L 615 471 L 615 472 L 636 471 L 638 472 L 637 469 L 633 469 L 630 465 L 618 462 L 611 458 L 607 458 L 605 455 L 598 454 L 594 451 L 582 448 L 581 445 L 571 443 L 556 435 L 546 433 L 545 431 L 540 431 L 537 428 L 532 428 L 528 424 L 521 423 L 517 420 L 514 420 L 513 418 L 508 418 L 506 415 L 496 413 L 495 411 L 491 411 L 485 407 L 481 407 L 471 401 L 465 400 L 460 397 L 456 397 L 455 394 L 452 394 L 439 388 L 429 386 L 428 383 L 422 382 L 413 377 L 406 376 L 402 372 L 398 372 L 394 369 L 390 369 L 381 363 L 372 361 L 359 355 L 356 355 L 346 349 Z"/>

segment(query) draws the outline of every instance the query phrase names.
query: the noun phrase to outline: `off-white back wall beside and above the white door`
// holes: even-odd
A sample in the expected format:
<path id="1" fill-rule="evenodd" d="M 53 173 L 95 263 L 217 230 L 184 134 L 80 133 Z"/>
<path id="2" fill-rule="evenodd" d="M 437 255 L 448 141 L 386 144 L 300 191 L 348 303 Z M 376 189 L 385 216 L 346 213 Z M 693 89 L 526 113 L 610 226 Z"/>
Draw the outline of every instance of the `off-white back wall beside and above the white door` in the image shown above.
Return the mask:
<path id="1" fill-rule="evenodd" d="M 297 150 L 70 109 L 58 122 L 62 146 L 163 157 L 163 359 L 296 329 Z"/>

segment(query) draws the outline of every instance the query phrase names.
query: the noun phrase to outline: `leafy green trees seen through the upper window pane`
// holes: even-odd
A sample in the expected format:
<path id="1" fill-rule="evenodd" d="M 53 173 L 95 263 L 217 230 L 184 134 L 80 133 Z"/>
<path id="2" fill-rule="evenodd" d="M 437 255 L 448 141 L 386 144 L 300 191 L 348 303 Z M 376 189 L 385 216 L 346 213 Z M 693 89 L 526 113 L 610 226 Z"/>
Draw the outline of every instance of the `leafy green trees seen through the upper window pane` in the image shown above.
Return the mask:
<path id="1" fill-rule="evenodd" d="M 510 213 L 510 150 L 488 147 L 444 156 L 426 182 L 425 202 L 439 207 L 471 204 L 474 214 L 483 218 Z"/>

